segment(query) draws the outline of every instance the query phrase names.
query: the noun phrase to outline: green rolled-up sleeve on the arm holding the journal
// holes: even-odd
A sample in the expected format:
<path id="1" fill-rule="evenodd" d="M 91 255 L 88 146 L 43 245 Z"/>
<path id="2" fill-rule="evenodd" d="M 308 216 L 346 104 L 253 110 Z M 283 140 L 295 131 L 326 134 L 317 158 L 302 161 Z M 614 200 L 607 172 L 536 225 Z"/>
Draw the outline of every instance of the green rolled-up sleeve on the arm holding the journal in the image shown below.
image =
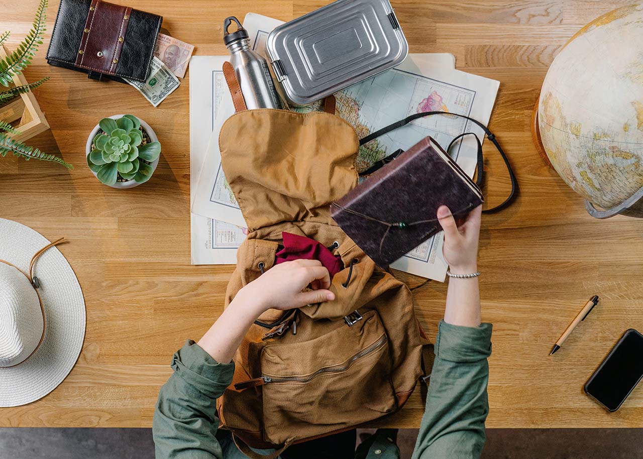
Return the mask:
<path id="1" fill-rule="evenodd" d="M 440 321 L 426 408 L 412 459 L 479 458 L 489 413 L 491 324 Z"/>

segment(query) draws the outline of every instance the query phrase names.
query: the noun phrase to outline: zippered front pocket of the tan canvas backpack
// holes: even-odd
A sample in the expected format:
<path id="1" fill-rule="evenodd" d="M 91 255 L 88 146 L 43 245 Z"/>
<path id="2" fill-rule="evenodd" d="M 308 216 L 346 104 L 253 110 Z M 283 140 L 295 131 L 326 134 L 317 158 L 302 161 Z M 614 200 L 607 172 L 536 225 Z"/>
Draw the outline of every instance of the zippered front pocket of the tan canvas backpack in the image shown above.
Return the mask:
<path id="1" fill-rule="evenodd" d="M 376 311 L 311 341 L 267 345 L 261 367 L 265 435 L 276 444 L 287 440 L 288 426 L 314 437 L 395 410 L 388 337 Z"/>

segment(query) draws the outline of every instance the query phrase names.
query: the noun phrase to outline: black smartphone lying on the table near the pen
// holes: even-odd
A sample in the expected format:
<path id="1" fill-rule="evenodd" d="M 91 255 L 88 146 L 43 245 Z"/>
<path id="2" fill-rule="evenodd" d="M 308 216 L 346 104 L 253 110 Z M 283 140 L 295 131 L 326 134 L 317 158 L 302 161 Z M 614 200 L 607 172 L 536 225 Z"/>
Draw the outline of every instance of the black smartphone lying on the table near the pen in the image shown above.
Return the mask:
<path id="1" fill-rule="evenodd" d="M 585 383 L 587 395 L 616 411 L 643 377 L 643 335 L 629 329 Z"/>

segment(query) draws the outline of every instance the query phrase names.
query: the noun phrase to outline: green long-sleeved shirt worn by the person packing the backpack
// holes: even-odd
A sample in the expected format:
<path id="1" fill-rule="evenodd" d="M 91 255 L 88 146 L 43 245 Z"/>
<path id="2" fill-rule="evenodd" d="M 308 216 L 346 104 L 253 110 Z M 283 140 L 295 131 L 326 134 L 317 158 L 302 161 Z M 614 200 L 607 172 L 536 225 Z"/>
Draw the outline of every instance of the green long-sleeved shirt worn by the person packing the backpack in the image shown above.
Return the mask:
<path id="1" fill-rule="evenodd" d="M 480 456 L 489 412 L 490 354 L 490 323 L 472 328 L 440 321 L 412 459 Z M 154 413 L 156 459 L 247 459 L 226 431 L 217 431 L 217 398 L 230 385 L 234 364 L 217 363 L 194 341 L 187 341 L 174 354 L 172 368 L 174 374 L 161 388 Z M 367 458 L 399 459 L 399 450 L 382 436 L 375 438 Z"/>

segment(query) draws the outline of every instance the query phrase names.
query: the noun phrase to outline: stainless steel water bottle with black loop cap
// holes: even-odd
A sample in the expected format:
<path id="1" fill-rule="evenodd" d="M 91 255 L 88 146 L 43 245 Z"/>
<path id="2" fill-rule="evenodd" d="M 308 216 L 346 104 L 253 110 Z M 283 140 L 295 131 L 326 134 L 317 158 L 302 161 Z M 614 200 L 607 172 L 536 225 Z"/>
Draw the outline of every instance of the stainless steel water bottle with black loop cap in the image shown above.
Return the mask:
<path id="1" fill-rule="evenodd" d="M 237 30 L 228 32 L 232 21 L 237 22 Z M 226 17 L 223 22 L 223 42 L 230 49 L 230 64 L 237 74 L 246 107 L 280 109 L 281 101 L 266 59 L 250 49 L 248 31 L 234 16 Z"/>

